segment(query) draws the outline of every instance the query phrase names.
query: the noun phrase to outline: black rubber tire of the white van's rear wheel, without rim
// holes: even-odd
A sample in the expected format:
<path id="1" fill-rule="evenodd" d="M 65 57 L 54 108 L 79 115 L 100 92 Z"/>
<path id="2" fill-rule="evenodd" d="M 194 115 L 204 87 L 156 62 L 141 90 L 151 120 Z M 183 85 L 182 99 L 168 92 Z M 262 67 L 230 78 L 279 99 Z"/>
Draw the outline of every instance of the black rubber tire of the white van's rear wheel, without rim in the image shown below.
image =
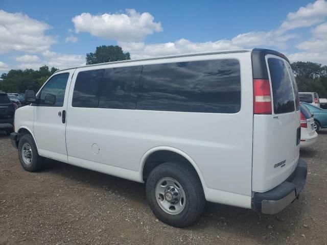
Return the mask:
<path id="1" fill-rule="evenodd" d="M 159 180 L 166 177 L 176 180 L 185 193 L 185 206 L 178 214 L 166 212 L 157 201 L 159 197 L 156 197 L 156 185 Z M 154 215 L 162 222 L 174 227 L 191 225 L 203 212 L 205 206 L 203 188 L 196 172 L 178 163 L 167 162 L 155 167 L 147 179 L 146 192 Z"/>

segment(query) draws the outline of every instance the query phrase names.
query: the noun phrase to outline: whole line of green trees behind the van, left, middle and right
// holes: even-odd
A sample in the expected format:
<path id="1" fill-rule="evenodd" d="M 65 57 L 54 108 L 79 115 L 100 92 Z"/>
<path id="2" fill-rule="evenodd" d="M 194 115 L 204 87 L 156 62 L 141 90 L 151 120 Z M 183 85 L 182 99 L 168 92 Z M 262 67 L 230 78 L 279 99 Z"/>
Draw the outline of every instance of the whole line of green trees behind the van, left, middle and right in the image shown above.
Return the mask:
<path id="1" fill-rule="evenodd" d="M 98 46 L 94 53 L 86 54 L 86 64 L 98 64 L 119 60 L 130 60 L 130 54 L 124 53 L 118 45 Z M 327 97 L 327 66 L 314 62 L 297 61 L 291 64 L 294 71 L 297 86 L 300 92 L 318 92 L 319 97 Z M 0 90 L 6 92 L 24 93 L 26 89 L 35 91 L 58 70 L 44 65 L 38 70 L 12 69 L 1 75 Z"/>

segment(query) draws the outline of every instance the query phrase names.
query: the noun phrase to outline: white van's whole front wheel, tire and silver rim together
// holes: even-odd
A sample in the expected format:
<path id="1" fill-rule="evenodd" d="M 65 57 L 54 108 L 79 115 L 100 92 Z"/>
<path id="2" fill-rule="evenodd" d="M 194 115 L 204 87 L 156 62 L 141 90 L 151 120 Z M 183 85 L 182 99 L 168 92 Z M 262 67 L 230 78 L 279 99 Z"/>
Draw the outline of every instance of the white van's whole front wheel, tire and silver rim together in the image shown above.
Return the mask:
<path id="1" fill-rule="evenodd" d="M 31 135 L 26 134 L 21 137 L 18 143 L 18 157 L 21 166 L 30 172 L 42 168 L 42 158 L 37 153 L 36 144 Z"/>

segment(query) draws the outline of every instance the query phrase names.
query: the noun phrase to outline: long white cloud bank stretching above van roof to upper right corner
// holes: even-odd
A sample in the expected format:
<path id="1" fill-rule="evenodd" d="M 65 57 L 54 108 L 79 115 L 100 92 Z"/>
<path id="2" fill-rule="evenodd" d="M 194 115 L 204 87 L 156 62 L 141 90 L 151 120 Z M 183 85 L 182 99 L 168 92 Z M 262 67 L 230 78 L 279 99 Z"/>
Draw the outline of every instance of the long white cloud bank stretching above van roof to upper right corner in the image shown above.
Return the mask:
<path id="1" fill-rule="evenodd" d="M 144 42 L 119 41 L 118 44 L 123 47 L 125 52 L 130 52 L 132 59 L 253 47 L 274 48 L 287 53 L 288 41 L 296 40 L 299 37 L 299 34 L 290 33 L 290 30 L 316 26 L 325 21 L 326 17 L 327 2 L 317 0 L 315 3 L 299 8 L 296 12 L 289 13 L 281 26 L 268 32 L 248 32 L 231 39 L 207 42 L 192 42 L 182 38 L 166 43 L 146 44 Z M 327 63 L 327 22 L 316 26 L 312 30 L 312 34 L 311 39 L 295 45 L 300 52 L 290 54 L 291 60 Z"/>

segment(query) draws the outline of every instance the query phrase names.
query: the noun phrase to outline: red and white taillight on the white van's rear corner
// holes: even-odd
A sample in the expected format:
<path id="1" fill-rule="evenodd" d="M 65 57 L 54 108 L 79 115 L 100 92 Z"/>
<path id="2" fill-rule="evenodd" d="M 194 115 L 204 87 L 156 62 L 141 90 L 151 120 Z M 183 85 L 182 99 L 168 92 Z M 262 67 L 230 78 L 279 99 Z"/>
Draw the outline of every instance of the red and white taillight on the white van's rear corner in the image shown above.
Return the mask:
<path id="1" fill-rule="evenodd" d="M 253 114 L 271 114 L 271 94 L 268 79 L 253 79 Z"/>

